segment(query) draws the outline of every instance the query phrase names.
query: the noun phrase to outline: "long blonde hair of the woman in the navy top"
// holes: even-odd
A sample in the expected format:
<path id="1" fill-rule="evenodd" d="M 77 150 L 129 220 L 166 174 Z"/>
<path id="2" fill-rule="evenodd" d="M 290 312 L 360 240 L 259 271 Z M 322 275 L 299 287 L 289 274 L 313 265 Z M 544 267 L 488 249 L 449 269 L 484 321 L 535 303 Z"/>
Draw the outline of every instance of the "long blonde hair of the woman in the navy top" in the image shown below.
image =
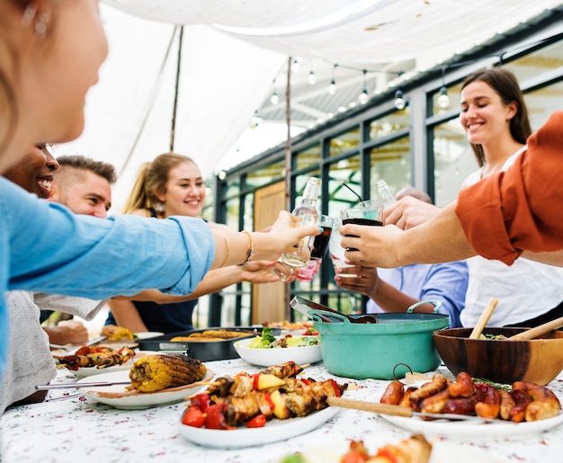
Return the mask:
<path id="1" fill-rule="evenodd" d="M 191 157 L 177 153 L 164 153 L 156 156 L 151 163 L 141 165 L 130 196 L 123 206 L 123 213 L 130 214 L 142 209 L 150 217 L 151 211 L 157 211 L 159 205 L 162 205 L 156 194 L 166 191 L 168 173 L 182 163 L 195 165 Z"/>

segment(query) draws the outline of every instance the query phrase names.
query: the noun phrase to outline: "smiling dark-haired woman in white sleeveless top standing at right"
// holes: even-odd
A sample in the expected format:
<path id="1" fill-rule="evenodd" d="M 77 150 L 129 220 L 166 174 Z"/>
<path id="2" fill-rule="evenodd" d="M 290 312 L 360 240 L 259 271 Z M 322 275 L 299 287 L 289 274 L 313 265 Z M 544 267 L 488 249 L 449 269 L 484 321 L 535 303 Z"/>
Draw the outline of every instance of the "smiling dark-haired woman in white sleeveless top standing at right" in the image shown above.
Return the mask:
<path id="1" fill-rule="evenodd" d="M 506 170 L 532 134 L 522 90 L 502 67 L 479 70 L 464 80 L 460 121 L 480 165 L 464 187 Z M 386 210 L 386 225 L 416 227 L 439 210 L 406 198 Z M 461 325 L 476 325 L 492 297 L 499 302 L 487 326 L 535 326 L 563 316 L 563 269 L 522 257 L 510 267 L 480 256 L 467 263 L 469 285 Z"/>

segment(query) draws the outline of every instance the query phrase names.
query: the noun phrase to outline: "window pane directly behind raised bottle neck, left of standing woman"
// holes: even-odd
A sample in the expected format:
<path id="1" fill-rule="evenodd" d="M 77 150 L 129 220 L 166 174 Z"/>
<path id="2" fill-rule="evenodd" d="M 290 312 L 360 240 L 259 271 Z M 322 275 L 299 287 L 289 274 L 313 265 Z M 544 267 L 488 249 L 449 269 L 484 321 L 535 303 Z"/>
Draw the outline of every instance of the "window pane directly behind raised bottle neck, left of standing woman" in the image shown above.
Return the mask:
<path id="1" fill-rule="evenodd" d="M 379 180 L 385 180 L 393 192 L 411 184 L 410 138 L 398 138 L 370 151 L 371 196 Z"/>

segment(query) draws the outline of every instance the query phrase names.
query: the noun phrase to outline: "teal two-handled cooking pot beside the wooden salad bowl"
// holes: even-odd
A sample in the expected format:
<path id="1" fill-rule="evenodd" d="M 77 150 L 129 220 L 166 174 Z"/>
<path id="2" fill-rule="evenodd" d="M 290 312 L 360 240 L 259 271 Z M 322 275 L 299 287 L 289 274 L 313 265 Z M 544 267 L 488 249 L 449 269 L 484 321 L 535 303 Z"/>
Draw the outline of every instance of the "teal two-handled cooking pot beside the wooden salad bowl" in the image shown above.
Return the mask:
<path id="1" fill-rule="evenodd" d="M 433 314 L 412 313 L 428 303 L 435 306 Z M 425 373 L 440 365 L 432 334 L 450 325 L 449 316 L 437 313 L 440 307 L 442 302 L 425 300 L 407 313 L 373 314 L 375 323 L 351 323 L 354 316 L 321 309 L 308 314 L 320 334 L 326 370 L 345 378 L 394 379 L 404 378 L 409 370 Z"/>

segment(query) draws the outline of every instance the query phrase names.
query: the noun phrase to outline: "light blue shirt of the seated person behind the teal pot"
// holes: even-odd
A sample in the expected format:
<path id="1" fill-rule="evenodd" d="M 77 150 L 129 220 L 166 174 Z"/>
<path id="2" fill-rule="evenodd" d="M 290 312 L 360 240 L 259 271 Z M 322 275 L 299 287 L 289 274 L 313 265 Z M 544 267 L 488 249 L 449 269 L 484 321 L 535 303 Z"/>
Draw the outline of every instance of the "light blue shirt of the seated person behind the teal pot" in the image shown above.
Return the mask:
<path id="1" fill-rule="evenodd" d="M 465 307 L 469 271 L 465 261 L 451 263 L 415 263 L 397 269 L 378 269 L 380 279 L 411 298 L 439 300 L 439 313 L 450 316 L 450 327 L 461 326 L 460 312 Z M 382 312 L 369 300 L 368 313 Z"/>

